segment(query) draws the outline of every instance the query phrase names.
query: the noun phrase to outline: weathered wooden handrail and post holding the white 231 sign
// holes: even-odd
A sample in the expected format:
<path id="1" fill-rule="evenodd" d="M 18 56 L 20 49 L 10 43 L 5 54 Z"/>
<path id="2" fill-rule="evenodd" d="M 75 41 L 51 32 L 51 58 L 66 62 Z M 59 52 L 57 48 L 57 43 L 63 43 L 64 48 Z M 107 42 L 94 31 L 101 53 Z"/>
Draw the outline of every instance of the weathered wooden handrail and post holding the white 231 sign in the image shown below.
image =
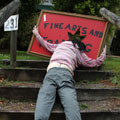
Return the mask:
<path id="1" fill-rule="evenodd" d="M 18 14 L 20 0 L 13 0 L 7 6 L 0 10 L 0 27 L 13 14 Z M 10 38 L 10 66 L 16 67 L 16 46 L 17 46 L 17 31 L 11 31 Z"/>

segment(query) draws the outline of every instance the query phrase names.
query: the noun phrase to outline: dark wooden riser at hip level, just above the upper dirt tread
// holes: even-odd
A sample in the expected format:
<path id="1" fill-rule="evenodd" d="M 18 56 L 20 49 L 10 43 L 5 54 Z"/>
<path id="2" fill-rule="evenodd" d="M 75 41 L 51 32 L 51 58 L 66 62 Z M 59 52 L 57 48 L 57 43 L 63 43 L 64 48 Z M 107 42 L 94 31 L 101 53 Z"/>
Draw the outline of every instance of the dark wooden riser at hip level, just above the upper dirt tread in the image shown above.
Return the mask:
<path id="1" fill-rule="evenodd" d="M 8 80 L 20 81 L 43 81 L 46 70 L 45 69 L 0 69 L 0 73 Z M 111 72 L 98 71 L 75 71 L 74 79 L 81 80 L 98 80 L 108 79 L 113 74 Z"/>

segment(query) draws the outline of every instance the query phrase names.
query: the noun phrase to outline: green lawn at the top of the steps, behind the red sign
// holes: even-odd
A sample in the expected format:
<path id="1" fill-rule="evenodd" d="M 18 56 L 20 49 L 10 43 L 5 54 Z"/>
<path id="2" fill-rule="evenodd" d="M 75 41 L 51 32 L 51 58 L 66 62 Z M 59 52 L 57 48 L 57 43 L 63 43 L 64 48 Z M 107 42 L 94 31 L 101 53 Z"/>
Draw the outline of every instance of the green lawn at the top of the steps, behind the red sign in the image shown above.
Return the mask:
<path id="1" fill-rule="evenodd" d="M 17 60 L 49 60 L 48 58 L 27 54 L 27 51 L 17 51 L 16 56 Z M 3 59 L 10 59 L 10 54 L 0 53 L 0 60 Z M 102 69 L 120 73 L 120 57 L 107 56 Z"/>

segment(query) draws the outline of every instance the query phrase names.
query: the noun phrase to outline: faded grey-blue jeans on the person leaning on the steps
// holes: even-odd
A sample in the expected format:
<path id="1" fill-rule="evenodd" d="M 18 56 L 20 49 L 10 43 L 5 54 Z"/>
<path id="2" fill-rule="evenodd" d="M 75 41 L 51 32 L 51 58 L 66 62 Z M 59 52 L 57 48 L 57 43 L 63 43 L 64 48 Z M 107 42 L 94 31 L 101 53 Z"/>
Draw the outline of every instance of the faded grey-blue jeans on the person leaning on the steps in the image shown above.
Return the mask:
<path id="1" fill-rule="evenodd" d="M 48 120 L 56 92 L 64 107 L 66 120 L 81 120 L 72 73 L 65 68 L 50 69 L 40 88 L 35 109 L 35 120 Z M 57 91 L 56 91 L 57 90 Z"/>

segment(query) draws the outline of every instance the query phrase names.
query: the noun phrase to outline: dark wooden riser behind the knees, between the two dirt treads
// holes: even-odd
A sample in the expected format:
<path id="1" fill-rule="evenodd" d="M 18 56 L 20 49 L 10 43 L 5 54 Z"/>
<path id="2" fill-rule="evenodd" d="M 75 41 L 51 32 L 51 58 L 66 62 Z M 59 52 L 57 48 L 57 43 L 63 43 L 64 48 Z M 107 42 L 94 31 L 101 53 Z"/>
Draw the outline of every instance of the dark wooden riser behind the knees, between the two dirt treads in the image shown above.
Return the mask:
<path id="1" fill-rule="evenodd" d="M 0 97 L 16 100 L 36 100 L 39 88 L 1 87 Z M 77 89 L 78 101 L 120 97 L 120 89 Z"/>

